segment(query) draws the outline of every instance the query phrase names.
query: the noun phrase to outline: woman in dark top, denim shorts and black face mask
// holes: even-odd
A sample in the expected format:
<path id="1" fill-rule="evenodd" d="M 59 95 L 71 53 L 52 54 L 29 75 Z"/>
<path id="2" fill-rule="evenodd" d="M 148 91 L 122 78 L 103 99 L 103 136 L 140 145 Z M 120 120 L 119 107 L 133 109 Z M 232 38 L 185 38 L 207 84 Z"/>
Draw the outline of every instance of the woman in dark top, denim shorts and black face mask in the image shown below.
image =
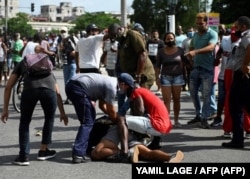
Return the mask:
<path id="1" fill-rule="evenodd" d="M 175 34 L 167 32 L 164 35 L 166 46 L 159 50 L 156 60 L 156 83 L 161 86 L 164 104 L 171 111 L 171 100 L 173 99 L 174 126 L 181 127 L 179 122 L 181 89 L 185 84 L 184 71 L 184 50 L 177 47 Z"/>

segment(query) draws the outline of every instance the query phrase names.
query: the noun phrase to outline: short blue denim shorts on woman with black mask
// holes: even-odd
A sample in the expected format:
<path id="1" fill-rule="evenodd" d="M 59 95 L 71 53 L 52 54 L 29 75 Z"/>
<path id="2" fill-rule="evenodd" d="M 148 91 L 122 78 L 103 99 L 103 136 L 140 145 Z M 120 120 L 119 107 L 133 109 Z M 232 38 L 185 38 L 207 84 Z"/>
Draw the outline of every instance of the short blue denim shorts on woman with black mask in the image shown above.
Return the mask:
<path id="1" fill-rule="evenodd" d="M 161 86 L 182 86 L 185 84 L 183 75 L 161 75 Z"/>

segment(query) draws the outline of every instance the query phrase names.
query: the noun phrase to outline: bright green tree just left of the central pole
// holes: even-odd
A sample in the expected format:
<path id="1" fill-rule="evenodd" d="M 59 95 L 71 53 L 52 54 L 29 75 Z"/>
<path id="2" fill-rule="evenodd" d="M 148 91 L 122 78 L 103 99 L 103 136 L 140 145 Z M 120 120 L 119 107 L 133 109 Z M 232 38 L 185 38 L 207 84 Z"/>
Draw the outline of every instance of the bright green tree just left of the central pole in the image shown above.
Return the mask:
<path id="1" fill-rule="evenodd" d="M 100 29 L 108 28 L 112 23 L 120 23 L 120 20 L 111 14 L 105 13 L 86 13 L 78 17 L 73 23 L 76 24 L 74 30 L 85 30 L 89 24 L 96 24 Z"/>

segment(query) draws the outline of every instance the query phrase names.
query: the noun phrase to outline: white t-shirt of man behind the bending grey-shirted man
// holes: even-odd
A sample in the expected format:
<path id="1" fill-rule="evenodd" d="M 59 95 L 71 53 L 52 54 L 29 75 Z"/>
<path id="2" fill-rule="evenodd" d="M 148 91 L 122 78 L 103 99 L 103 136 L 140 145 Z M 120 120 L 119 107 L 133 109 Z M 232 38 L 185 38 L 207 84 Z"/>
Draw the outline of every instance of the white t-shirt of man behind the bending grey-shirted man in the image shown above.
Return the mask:
<path id="1" fill-rule="evenodd" d="M 79 53 L 80 68 L 99 69 L 103 53 L 103 37 L 104 34 L 98 34 L 81 38 L 77 42 L 75 51 Z"/>

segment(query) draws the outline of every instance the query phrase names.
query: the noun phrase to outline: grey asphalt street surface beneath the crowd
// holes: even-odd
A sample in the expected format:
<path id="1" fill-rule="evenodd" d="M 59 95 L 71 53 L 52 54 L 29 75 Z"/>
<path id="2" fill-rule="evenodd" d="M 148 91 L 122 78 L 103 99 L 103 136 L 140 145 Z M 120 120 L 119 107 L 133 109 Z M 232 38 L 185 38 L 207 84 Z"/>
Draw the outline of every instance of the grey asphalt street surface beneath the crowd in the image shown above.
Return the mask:
<path id="1" fill-rule="evenodd" d="M 55 70 L 55 75 L 65 99 L 63 76 L 61 70 Z M 155 87 L 153 88 L 153 90 Z M 3 107 L 3 91 L 0 88 L 0 109 Z M 47 178 L 47 179 L 130 179 L 131 164 L 111 164 L 106 162 L 90 162 L 86 164 L 71 164 L 71 146 L 78 129 L 78 121 L 71 105 L 65 105 L 70 117 L 69 125 L 60 123 L 58 115 L 53 132 L 53 144 L 50 146 L 57 151 L 57 157 L 49 161 L 37 161 L 37 152 L 41 137 L 35 136 L 36 130 L 41 129 L 43 114 L 40 106 L 36 107 L 33 121 L 30 125 L 30 166 L 14 166 L 11 162 L 18 154 L 18 124 L 19 113 L 10 105 L 10 117 L 7 124 L 0 122 L 0 178 Z M 58 114 L 58 112 L 57 112 Z M 98 116 L 103 115 L 98 110 Z M 162 150 L 173 153 L 182 150 L 185 154 L 184 163 L 249 163 L 250 140 L 245 140 L 243 150 L 224 149 L 221 143 L 228 141 L 222 137 L 221 127 L 201 129 L 198 126 L 187 126 L 188 120 L 194 117 L 194 109 L 189 96 L 183 92 L 181 97 L 180 122 L 182 128 L 173 129 L 170 134 L 162 137 Z"/>

